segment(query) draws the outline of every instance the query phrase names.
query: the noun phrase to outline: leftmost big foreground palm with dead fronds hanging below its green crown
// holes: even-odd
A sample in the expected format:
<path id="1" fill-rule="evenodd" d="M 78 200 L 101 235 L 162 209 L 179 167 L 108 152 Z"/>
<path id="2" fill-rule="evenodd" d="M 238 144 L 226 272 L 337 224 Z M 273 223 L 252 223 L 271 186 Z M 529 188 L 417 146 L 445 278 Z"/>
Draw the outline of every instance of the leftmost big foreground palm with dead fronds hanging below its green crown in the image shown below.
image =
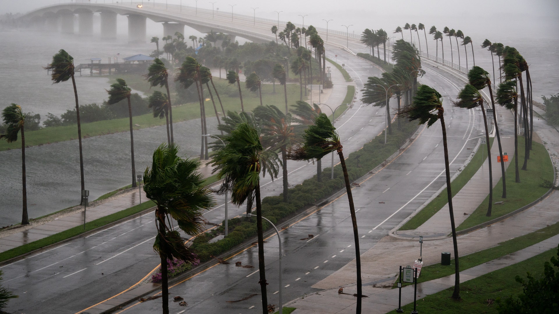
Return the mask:
<path id="1" fill-rule="evenodd" d="M 215 206 L 212 191 L 205 187 L 204 177 L 198 172 L 200 161 L 182 159 L 178 150 L 176 144 L 160 145 L 153 152 L 151 169 L 148 167 L 144 172 L 145 195 L 157 206 L 153 249 L 161 258 L 163 314 L 169 313 L 167 264 L 175 259 L 186 262 L 196 259 L 185 245 L 186 239 L 173 228 L 172 221 L 176 220 L 186 234 L 196 236 L 205 229 L 202 211 Z"/>

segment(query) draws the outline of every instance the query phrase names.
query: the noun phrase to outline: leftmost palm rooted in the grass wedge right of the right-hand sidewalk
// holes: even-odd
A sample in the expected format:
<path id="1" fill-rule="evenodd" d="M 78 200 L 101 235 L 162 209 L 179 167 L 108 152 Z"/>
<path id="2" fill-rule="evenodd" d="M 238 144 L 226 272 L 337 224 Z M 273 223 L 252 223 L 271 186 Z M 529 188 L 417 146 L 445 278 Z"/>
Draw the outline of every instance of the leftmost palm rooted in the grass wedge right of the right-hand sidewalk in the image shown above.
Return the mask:
<path id="1" fill-rule="evenodd" d="M 481 113 L 484 116 L 485 126 L 485 143 L 487 145 L 487 162 L 489 163 L 489 206 L 485 216 L 491 217 L 491 208 L 493 204 L 493 171 L 491 168 L 491 145 L 489 144 L 489 129 L 487 128 L 487 117 L 485 115 L 484 98 L 481 96 L 480 91 L 477 90 L 472 84 L 466 84 L 464 88 L 458 93 L 456 102 L 452 102 L 454 106 L 459 108 L 471 109 L 475 107 L 481 108 Z"/>

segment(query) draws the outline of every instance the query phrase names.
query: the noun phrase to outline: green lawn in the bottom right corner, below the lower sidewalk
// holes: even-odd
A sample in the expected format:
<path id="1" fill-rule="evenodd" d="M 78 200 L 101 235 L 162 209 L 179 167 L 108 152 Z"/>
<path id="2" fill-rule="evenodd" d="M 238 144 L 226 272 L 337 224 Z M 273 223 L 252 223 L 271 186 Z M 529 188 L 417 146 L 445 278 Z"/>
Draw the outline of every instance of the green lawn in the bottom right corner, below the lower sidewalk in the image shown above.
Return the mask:
<path id="1" fill-rule="evenodd" d="M 515 250 L 518 249 L 521 248 L 515 248 Z M 459 301 L 451 298 L 453 287 L 430 294 L 424 298 L 418 299 L 416 310 L 419 313 L 439 314 L 498 313 L 498 304 L 495 302 L 496 299 L 505 299 L 511 295 L 517 297 L 518 294 L 523 292 L 522 285 L 516 282 L 515 277 L 518 275 L 520 278 L 526 279 L 526 274 L 529 272 L 535 278 L 540 278 L 543 275 L 544 263 L 549 261 L 552 256 L 557 256 L 557 248 L 521 261 L 520 263 L 462 282 L 460 283 L 460 296 L 462 299 Z M 463 263 L 464 258 L 461 257 L 460 264 L 463 265 Z M 454 269 L 453 265 L 445 267 Z M 424 275 L 423 272 L 425 270 L 427 269 L 421 271 L 421 276 Z M 412 302 L 402 306 L 402 309 L 404 313 L 409 313 L 413 310 L 413 306 Z M 396 310 L 389 313 L 395 314 Z"/>

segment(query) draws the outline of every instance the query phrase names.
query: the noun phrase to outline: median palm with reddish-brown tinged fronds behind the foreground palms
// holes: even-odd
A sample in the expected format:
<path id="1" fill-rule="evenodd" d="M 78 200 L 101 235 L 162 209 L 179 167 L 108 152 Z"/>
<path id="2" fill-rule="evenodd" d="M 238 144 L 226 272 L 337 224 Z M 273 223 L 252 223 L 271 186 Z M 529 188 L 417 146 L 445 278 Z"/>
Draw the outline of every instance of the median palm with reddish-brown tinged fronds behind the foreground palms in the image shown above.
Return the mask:
<path id="1" fill-rule="evenodd" d="M 276 106 L 258 106 L 254 117 L 262 122 L 262 142 L 272 150 L 280 150 L 283 177 L 283 202 L 288 202 L 287 153 L 299 140 L 295 132 L 294 120 L 289 113 L 283 113 Z"/>

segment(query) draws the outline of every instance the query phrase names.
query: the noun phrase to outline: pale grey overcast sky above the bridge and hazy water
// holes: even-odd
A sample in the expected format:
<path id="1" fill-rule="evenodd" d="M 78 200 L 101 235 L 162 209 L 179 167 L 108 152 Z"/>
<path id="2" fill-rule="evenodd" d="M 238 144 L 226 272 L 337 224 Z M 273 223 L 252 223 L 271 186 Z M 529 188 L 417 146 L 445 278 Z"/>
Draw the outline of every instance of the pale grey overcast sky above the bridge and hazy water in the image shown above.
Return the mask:
<path id="1" fill-rule="evenodd" d="M 181 0 L 156 1 L 181 3 Z M 70 0 L 0 0 L 0 13 L 29 12 L 35 8 L 64 2 Z M 113 0 L 91 2 L 108 3 Z M 144 0 L 145 3 L 148 1 Z M 194 0 L 182 0 L 182 4 L 192 7 L 196 5 Z M 461 29 L 466 35 L 487 34 L 487 31 L 491 31 L 494 35 L 514 33 L 519 36 L 555 38 L 559 29 L 558 0 L 227 0 L 217 1 L 215 8 L 231 12 L 230 4 L 235 4 L 234 13 L 245 15 L 253 15 L 251 7 L 258 7 L 257 17 L 264 18 L 277 19 L 277 13 L 274 11 L 283 11 L 280 13 L 280 20 L 296 23 L 302 22 L 299 15 L 308 15 L 305 17 L 305 25 L 312 24 L 317 27 L 326 27 L 323 19 L 332 19 L 333 21 L 329 22 L 330 29 L 345 30 L 342 25 L 352 24 L 349 31 L 356 33 L 361 33 L 364 28 L 384 28 L 391 32 L 396 26 L 403 26 L 406 22 L 422 22 L 425 26 L 437 25 L 438 28 L 449 26 Z M 212 5 L 209 0 L 198 0 L 198 7 L 211 9 Z M 515 22 L 518 18 L 520 23 Z"/>

